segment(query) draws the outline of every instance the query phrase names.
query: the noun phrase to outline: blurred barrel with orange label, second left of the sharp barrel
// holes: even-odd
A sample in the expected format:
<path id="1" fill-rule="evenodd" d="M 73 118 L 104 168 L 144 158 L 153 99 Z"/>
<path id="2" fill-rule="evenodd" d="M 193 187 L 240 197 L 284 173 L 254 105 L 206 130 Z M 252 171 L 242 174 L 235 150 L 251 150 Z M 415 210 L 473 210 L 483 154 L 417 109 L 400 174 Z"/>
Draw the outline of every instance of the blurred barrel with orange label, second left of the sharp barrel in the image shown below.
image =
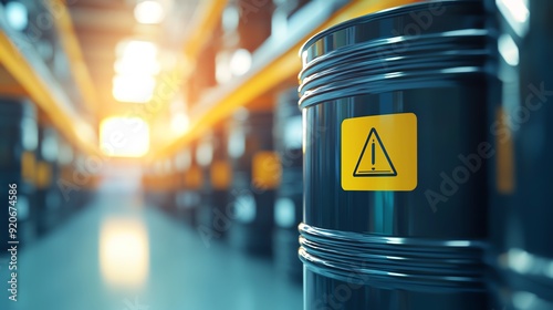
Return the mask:
<path id="1" fill-rule="evenodd" d="M 272 120 L 270 112 L 241 110 L 228 128 L 232 167 L 229 241 L 236 248 L 261 255 L 272 250 L 274 189 L 279 184 Z"/>

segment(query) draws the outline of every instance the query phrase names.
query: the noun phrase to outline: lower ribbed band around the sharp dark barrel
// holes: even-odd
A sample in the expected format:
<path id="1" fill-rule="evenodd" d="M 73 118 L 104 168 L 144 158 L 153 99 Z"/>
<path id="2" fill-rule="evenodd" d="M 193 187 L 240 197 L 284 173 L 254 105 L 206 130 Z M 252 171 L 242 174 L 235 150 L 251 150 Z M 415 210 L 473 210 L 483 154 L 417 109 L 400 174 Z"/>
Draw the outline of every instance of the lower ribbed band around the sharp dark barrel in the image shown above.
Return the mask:
<path id="1" fill-rule="evenodd" d="M 358 285 L 417 291 L 483 291 L 486 244 L 389 237 L 300 224 L 300 259 L 311 271 Z"/>

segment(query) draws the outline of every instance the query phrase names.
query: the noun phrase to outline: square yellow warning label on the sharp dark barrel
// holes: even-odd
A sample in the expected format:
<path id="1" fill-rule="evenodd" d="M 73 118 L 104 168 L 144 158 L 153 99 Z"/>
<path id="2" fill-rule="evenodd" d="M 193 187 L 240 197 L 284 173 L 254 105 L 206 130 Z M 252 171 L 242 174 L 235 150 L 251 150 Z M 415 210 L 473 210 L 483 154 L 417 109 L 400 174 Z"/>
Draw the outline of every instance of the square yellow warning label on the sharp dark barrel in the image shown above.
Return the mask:
<path id="1" fill-rule="evenodd" d="M 342 122 L 344 190 L 413 190 L 417 187 L 417 116 L 413 113 Z"/>

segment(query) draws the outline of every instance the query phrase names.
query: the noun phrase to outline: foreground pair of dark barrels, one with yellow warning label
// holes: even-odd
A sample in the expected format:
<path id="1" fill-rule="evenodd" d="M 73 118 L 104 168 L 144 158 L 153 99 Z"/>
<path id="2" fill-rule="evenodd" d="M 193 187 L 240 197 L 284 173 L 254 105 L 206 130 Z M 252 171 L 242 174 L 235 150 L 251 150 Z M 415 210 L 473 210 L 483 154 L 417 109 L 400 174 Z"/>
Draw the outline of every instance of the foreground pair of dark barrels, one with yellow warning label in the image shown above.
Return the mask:
<path id="1" fill-rule="evenodd" d="M 553 309 L 552 13 L 428 1 L 303 45 L 304 309 Z"/>

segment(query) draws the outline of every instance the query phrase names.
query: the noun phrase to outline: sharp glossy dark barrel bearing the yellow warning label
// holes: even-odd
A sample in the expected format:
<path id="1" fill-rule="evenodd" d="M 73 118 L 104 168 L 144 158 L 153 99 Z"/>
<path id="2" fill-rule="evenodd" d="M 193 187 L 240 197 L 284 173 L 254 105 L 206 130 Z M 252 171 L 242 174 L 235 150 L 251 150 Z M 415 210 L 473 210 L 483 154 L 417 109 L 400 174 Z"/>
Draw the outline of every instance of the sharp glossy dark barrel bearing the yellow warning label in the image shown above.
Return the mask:
<path id="1" fill-rule="evenodd" d="M 417 3 L 301 49 L 305 309 L 488 309 L 488 19 Z"/>

